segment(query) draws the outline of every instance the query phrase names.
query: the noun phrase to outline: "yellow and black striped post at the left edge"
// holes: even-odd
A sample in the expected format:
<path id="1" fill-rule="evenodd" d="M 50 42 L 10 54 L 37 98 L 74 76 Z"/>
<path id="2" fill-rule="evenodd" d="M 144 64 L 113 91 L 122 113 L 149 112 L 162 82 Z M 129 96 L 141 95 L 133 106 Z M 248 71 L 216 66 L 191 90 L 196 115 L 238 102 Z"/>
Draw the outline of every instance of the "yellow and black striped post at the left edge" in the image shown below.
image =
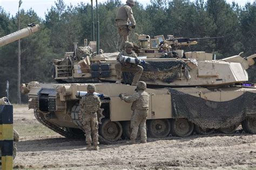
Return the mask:
<path id="1" fill-rule="evenodd" d="M 0 146 L 2 151 L 2 169 L 12 169 L 14 149 L 14 115 L 12 105 L 0 105 Z"/>

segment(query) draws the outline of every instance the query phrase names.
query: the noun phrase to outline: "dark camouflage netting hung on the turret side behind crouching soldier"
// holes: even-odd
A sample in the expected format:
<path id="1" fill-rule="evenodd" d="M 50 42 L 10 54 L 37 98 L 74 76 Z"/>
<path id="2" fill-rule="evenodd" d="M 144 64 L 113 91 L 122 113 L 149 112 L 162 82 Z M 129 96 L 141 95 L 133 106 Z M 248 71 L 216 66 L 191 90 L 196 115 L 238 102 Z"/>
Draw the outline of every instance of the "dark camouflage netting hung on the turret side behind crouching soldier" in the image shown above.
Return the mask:
<path id="1" fill-rule="evenodd" d="M 171 83 L 179 77 L 181 66 L 185 66 L 183 61 L 147 61 L 148 64 L 143 66 L 143 74 L 141 81 L 155 82 L 160 80 Z M 133 79 L 132 73 L 123 74 L 124 81 L 131 83 Z"/>

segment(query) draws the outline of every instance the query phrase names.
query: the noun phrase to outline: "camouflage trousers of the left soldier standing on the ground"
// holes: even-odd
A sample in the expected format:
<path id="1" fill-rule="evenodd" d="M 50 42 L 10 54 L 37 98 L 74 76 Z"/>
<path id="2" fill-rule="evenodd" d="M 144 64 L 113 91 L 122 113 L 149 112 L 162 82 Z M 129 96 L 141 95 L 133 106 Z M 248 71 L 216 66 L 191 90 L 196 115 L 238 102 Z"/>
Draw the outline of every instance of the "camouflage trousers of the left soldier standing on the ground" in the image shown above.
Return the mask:
<path id="1" fill-rule="evenodd" d="M 86 144 L 93 143 L 93 145 L 98 145 L 99 125 L 97 114 L 83 114 L 83 125 L 85 130 Z"/>

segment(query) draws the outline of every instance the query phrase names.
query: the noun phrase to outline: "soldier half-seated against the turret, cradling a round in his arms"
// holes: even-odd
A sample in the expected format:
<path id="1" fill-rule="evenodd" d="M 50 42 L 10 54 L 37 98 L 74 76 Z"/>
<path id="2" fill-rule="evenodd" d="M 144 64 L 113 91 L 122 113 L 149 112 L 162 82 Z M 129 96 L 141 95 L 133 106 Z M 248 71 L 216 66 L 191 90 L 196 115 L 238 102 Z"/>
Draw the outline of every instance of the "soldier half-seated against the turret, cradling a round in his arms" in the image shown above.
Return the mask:
<path id="1" fill-rule="evenodd" d="M 116 69 L 116 74 L 117 74 L 117 84 L 120 84 L 122 81 L 122 72 L 132 72 L 134 73 L 133 81 L 132 81 L 132 86 L 137 86 L 137 83 L 140 79 L 140 76 L 143 73 L 143 67 L 139 66 L 137 64 L 133 63 L 127 63 L 124 61 L 119 61 L 119 57 L 121 55 L 125 56 L 130 56 L 132 58 L 137 58 L 137 54 L 132 51 L 133 44 L 131 42 L 126 42 L 125 43 L 125 50 L 120 52 L 119 55 L 117 56 L 117 63 L 114 65 L 114 68 Z"/>

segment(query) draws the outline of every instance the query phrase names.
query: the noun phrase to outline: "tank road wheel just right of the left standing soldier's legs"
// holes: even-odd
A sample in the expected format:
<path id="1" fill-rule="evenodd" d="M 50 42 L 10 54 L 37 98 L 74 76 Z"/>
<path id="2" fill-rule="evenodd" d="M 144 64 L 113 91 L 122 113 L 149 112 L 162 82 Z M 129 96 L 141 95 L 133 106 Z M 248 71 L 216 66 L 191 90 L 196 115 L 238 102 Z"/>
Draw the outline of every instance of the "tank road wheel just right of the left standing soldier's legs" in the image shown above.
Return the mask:
<path id="1" fill-rule="evenodd" d="M 108 141 L 117 141 L 122 135 L 123 129 L 119 122 L 111 122 L 110 119 L 102 119 L 99 126 L 99 134 Z"/>

